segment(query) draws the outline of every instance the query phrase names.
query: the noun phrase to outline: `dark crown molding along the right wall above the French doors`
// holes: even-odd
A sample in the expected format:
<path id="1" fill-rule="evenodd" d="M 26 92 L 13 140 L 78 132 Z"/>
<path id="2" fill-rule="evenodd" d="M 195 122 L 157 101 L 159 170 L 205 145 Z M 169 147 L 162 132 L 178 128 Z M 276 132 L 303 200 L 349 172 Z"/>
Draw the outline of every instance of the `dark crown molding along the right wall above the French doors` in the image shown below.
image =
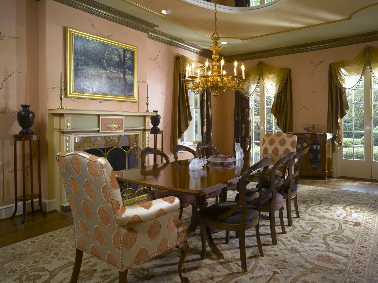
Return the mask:
<path id="1" fill-rule="evenodd" d="M 353 45 L 358 43 L 370 42 L 378 40 L 378 31 L 372 31 L 370 33 L 355 34 L 353 36 L 338 37 L 335 39 L 321 40 L 316 42 L 310 42 L 306 44 L 291 45 L 286 47 L 279 47 L 274 49 L 268 49 L 263 51 L 242 53 L 236 55 L 227 56 L 227 61 L 246 61 L 267 57 L 282 56 L 288 54 L 302 53 L 308 51 L 322 50 L 327 48 L 341 47 L 346 45 Z"/>

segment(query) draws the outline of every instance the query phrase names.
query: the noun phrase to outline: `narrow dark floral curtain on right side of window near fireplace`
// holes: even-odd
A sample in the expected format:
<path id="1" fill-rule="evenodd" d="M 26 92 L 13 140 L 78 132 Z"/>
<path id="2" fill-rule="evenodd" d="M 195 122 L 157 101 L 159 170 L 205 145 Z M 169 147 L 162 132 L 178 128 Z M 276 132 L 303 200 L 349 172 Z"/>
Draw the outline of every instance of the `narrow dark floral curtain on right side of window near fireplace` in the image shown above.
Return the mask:
<path id="1" fill-rule="evenodd" d="M 200 93 L 201 136 L 202 142 L 212 145 L 211 92 Z"/>

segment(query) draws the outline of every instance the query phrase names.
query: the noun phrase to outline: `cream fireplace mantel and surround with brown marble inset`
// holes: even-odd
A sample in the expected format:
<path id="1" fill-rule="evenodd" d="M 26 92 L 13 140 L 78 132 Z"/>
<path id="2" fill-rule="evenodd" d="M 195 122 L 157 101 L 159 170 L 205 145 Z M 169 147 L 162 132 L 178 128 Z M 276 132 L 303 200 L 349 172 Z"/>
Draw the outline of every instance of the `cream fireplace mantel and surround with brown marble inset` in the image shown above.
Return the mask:
<path id="1" fill-rule="evenodd" d="M 78 148 L 75 140 L 94 140 L 93 143 L 116 146 L 129 142 L 140 147 L 149 146 L 150 117 L 153 112 L 120 112 L 109 110 L 48 109 L 48 194 L 54 195 L 49 210 L 66 211 L 69 204 L 55 160 L 58 152 L 71 152 Z M 101 117 L 124 119 L 124 129 L 100 131 Z M 51 197 L 49 197 L 51 200 Z M 53 202 L 53 203 L 51 203 Z"/>

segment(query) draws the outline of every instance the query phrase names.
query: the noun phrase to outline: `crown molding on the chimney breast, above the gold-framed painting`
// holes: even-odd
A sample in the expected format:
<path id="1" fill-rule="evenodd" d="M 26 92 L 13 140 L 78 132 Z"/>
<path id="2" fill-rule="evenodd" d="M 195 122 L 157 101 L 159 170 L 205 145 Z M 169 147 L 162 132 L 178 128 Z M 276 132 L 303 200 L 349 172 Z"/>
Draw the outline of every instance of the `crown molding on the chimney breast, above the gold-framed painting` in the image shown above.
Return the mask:
<path id="1" fill-rule="evenodd" d="M 119 23 L 120 25 L 127 26 L 134 30 L 143 33 L 149 33 L 157 25 L 134 17 L 130 14 L 113 9 L 109 6 L 102 5 L 94 0 L 54 0 L 72 8 L 87 12 L 89 14 L 101 17 L 111 22 Z"/>

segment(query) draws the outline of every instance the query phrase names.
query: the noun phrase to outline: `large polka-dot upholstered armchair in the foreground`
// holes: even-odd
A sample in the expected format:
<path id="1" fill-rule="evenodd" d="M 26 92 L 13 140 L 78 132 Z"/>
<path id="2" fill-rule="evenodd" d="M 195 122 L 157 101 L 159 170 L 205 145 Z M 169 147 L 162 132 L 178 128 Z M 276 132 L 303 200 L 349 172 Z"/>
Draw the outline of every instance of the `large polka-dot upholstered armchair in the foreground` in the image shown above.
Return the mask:
<path id="1" fill-rule="evenodd" d="M 188 244 L 187 225 L 172 218 L 180 207 L 177 197 L 164 197 L 123 206 L 113 168 L 103 157 L 86 152 L 60 152 L 56 156 L 74 219 L 76 257 L 71 283 L 79 277 L 83 252 L 119 271 L 127 282 L 127 269 L 170 247 L 181 249 L 178 274 Z"/>

